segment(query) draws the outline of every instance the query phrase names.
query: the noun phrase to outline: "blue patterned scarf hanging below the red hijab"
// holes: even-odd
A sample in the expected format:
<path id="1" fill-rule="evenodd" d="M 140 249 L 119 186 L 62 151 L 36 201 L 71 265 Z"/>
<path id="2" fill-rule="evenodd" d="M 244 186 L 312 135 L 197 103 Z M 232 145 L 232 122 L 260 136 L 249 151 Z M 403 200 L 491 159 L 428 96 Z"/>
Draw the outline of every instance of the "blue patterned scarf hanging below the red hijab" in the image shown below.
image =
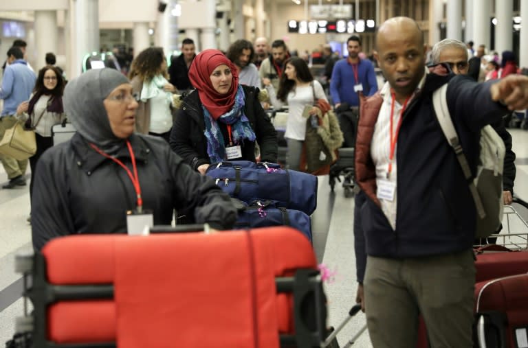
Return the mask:
<path id="1" fill-rule="evenodd" d="M 221 115 L 217 121 L 223 124 L 231 125 L 232 140 L 236 145 L 242 145 L 244 139 L 255 141 L 255 132 L 252 130 L 248 117 L 244 115 L 245 95 L 242 86 L 236 91 L 234 98 L 234 105 L 230 111 Z M 207 154 L 211 163 L 225 161 L 225 139 L 223 139 L 217 121 L 214 121 L 211 114 L 205 106 L 203 109 L 203 117 L 206 122 L 206 130 L 203 134 L 207 139 Z"/>

